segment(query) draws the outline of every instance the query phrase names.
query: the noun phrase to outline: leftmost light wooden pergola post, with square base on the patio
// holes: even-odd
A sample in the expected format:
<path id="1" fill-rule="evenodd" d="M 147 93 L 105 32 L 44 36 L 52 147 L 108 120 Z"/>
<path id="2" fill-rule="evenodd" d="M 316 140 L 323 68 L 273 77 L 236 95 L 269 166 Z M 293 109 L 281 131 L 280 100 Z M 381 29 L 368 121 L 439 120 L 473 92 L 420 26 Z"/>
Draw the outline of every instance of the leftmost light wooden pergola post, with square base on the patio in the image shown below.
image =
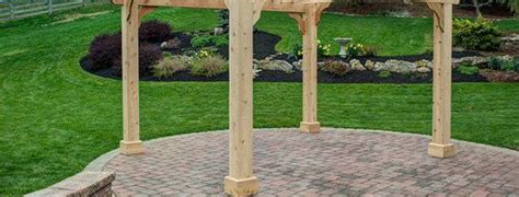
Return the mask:
<path id="1" fill-rule="evenodd" d="M 123 140 L 120 153 L 145 151 L 139 137 L 139 5 L 136 0 L 123 3 Z"/>

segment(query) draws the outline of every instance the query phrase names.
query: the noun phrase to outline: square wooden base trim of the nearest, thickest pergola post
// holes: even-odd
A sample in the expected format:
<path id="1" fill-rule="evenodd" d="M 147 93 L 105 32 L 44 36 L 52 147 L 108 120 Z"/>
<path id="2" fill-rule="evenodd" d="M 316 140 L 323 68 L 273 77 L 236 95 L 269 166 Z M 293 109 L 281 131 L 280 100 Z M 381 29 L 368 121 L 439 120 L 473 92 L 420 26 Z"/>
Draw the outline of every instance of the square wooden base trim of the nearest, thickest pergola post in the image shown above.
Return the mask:
<path id="1" fill-rule="evenodd" d="M 231 196 L 251 196 L 260 192 L 260 181 L 256 176 L 242 179 L 226 176 L 223 188 Z"/>

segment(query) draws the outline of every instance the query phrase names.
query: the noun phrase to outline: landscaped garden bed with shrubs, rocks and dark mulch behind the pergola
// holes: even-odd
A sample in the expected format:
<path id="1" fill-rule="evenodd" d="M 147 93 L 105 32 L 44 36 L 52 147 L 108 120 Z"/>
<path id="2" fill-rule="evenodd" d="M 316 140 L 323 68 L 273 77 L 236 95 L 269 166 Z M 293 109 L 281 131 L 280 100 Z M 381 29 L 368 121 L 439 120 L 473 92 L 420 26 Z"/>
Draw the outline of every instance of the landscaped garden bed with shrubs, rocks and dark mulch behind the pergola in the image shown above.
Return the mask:
<path id="1" fill-rule="evenodd" d="M 488 27 L 486 27 L 487 25 Z M 453 82 L 518 81 L 519 59 L 510 56 L 484 57 L 478 50 L 500 46 L 498 33 L 485 21 L 459 20 L 454 24 L 454 43 L 468 49 L 453 53 Z M 476 27 L 474 27 L 476 26 Z M 477 40 L 464 35 L 464 28 L 482 28 L 485 36 Z M 486 32 L 485 32 L 486 31 Z M 166 23 L 146 22 L 139 30 L 142 81 L 227 81 L 229 40 L 226 24 L 214 31 L 172 32 Z M 469 39 L 465 39 L 469 38 Z M 276 51 L 281 37 L 254 32 L 255 81 L 300 82 L 301 45 L 293 44 L 289 53 Z M 341 39 L 341 38 L 337 38 Z M 349 39 L 348 39 L 349 40 Z M 377 48 L 347 43 L 346 54 L 332 55 L 332 44 L 319 44 L 319 82 L 321 83 L 428 83 L 432 81 L 431 51 L 408 56 L 377 56 Z M 81 67 L 94 74 L 120 79 L 120 34 L 97 36 Z"/>

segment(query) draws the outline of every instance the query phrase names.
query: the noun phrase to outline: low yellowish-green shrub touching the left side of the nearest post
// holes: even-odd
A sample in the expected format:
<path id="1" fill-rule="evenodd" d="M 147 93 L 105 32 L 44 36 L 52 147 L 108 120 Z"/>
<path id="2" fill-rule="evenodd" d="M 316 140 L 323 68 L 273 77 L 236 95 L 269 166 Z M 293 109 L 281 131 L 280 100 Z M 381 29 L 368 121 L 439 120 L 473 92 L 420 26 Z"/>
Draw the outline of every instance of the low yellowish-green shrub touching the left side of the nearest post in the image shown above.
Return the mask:
<path id="1" fill-rule="evenodd" d="M 226 72 L 229 62 L 219 55 L 200 56 L 193 59 L 194 76 L 214 77 Z"/>

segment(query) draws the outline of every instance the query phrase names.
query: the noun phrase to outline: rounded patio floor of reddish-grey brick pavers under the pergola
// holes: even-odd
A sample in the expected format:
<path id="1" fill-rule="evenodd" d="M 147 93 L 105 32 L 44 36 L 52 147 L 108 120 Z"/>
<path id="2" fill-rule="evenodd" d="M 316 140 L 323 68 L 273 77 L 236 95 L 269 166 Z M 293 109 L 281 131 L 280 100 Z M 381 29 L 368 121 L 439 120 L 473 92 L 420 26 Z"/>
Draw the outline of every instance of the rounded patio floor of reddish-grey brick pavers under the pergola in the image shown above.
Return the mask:
<path id="1" fill-rule="evenodd" d="M 435 159 L 427 155 L 428 142 L 424 136 L 366 130 L 257 129 L 257 196 L 519 195 L 516 151 L 455 141 L 453 158 Z M 222 196 L 228 134 L 153 140 L 146 154 L 116 155 L 103 170 L 116 173 L 119 196 Z"/>

